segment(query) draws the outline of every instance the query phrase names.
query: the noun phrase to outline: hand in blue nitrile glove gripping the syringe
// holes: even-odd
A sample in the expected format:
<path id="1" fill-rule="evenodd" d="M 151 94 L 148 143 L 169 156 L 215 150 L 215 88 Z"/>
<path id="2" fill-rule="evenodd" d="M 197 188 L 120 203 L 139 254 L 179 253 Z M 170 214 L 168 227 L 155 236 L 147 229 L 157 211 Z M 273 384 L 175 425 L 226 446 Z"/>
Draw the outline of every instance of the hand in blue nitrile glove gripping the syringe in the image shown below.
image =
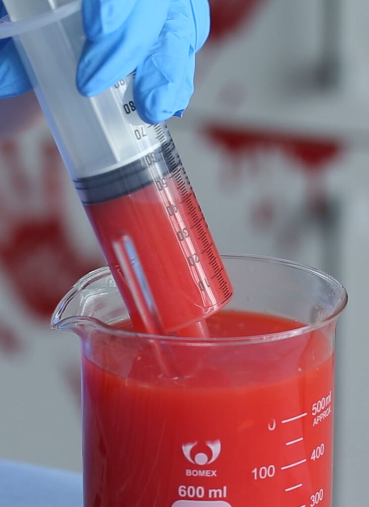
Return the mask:
<path id="1" fill-rule="evenodd" d="M 77 87 L 92 96 L 136 69 L 134 99 L 144 121 L 181 116 L 194 91 L 195 53 L 209 33 L 208 0 L 83 0 L 87 41 Z M 6 14 L 0 0 L 0 17 Z M 10 40 L 0 41 L 0 97 L 30 89 Z"/>

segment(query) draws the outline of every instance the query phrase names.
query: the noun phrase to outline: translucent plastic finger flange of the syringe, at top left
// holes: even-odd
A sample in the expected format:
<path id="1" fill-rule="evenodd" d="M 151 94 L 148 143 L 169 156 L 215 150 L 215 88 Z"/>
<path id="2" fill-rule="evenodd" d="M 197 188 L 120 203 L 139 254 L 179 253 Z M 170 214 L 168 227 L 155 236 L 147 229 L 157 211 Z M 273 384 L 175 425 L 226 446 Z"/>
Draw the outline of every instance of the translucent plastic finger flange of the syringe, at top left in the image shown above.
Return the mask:
<path id="1" fill-rule="evenodd" d="M 21 35 L 22 33 L 43 28 L 51 23 L 60 21 L 79 12 L 81 6 L 82 0 L 71 0 L 68 4 L 56 7 L 55 9 L 49 9 L 19 21 L 10 21 L 9 16 L 4 16 L 4 18 L 0 19 L 0 40 L 7 39 L 8 37 L 17 37 L 17 35 Z"/>

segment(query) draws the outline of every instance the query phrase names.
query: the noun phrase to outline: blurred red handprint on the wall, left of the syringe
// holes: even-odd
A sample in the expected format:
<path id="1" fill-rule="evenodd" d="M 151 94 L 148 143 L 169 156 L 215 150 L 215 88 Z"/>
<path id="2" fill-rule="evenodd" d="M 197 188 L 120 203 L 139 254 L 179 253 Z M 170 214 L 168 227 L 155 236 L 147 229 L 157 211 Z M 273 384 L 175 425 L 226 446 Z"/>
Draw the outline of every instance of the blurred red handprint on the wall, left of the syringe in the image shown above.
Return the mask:
<path id="1" fill-rule="evenodd" d="M 101 258 L 82 255 L 83 245 L 72 244 L 66 234 L 67 203 L 60 181 L 65 169 L 53 141 L 46 141 L 40 150 L 41 176 L 32 178 L 18 144 L 0 144 L 10 179 L 10 191 L 0 199 L 0 220 L 7 224 L 7 234 L 0 239 L 0 263 L 28 309 L 49 318 L 66 291 L 101 265 Z M 43 211 L 34 212 L 40 206 Z"/>

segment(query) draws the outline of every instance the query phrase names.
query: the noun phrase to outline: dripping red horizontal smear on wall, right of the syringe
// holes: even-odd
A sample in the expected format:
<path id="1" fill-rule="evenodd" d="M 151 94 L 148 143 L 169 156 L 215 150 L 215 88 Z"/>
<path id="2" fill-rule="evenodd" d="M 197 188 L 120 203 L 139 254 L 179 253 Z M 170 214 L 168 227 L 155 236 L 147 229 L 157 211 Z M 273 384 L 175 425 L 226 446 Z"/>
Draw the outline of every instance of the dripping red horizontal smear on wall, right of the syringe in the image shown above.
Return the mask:
<path id="1" fill-rule="evenodd" d="M 205 136 L 212 144 L 222 148 L 229 159 L 226 171 L 221 174 L 222 188 L 234 190 L 241 184 L 245 170 L 247 177 L 256 172 L 262 174 L 263 163 L 257 161 L 257 155 L 263 152 L 280 150 L 286 157 L 296 162 L 296 169 L 305 174 L 304 199 L 301 202 L 303 214 L 323 220 L 328 213 L 325 169 L 343 151 L 340 142 L 327 138 L 304 138 L 293 134 L 255 131 L 247 129 L 227 129 L 217 125 L 208 126 Z M 247 164 L 242 161 L 247 158 Z M 283 205 L 272 188 L 260 189 L 266 195 L 256 195 L 248 219 L 257 229 L 271 228 L 277 215 L 277 209 Z"/>

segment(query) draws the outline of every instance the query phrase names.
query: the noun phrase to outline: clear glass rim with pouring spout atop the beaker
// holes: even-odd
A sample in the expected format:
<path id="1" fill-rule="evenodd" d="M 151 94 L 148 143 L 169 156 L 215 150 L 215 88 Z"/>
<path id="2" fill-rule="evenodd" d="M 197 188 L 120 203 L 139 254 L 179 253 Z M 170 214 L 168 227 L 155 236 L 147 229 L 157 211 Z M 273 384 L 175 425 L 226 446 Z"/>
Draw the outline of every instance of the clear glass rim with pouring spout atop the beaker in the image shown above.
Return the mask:
<path id="1" fill-rule="evenodd" d="M 175 341 L 175 342 L 182 342 L 182 343 L 188 343 L 195 346 L 209 346 L 209 345 L 241 345 L 241 344 L 256 344 L 256 343 L 269 343 L 279 340 L 284 340 L 288 338 L 293 338 L 297 336 L 301 336 L 307 333 L 311 333 L 312 331 L 316 331 L 320 328 L 323 328 L 327 325 L 329 325 L 331 322 L 334 322 L 338 319 L 341 312 L 344 310 L 344 308 L 347 305 L 348 302 L 348 295 L 346 292 L 345 287 L 333 276 L 328 275 L 324 271 L 318 270 L 316 268 L 313 268 L 308 265 L 300 264 L 294 261 L 290 261 L 287 259 L 280 259 L 277 257 L 269 257 L 269 256 L 260 256 L 260 255 L 254 255 L 254 254 L 242 254 L 242 253 L 229 253 L 227 255 L 222 255 L 222 259 L 224 260 L 232 260 L 232 261 L 257 261 L 257 262 L 265 262 L 265 263 L 275 263 L 279 265 L 284 265 L 291 269 L 298 269 L 300 271 L 304 271 L 307 273 L 310 273 L 317 278 L 320 278 L 321 280 L 325 281 L 327 284 L 329 284 L 333 289 L 339 291 L 340 298 L 338 299 L 338 304 L 334 308 L 334 311 L 331 312 L 326 317 L 322 318 L 321 320 L 318 320 L 317 322 L 310 323 L 303 325 L 299 328 L 294 328 L 287 331 L 280 331 L 276 333 L 267 333 L 267 334 L 259 334 L 259 335 L 252 335 L 252 336 L 237 336 L 237 337 L 210 337 L 210 338 L 199 338 L 199 337 L 178 337 L 178 336 L 171 336 L 171 335 L 153 335 L 153 334 L 145 334 L 145 333 L 137 333 L 134 331 L 128 331 L 128 330 L 122 330 L 122 329 L 115 329 L 112 327 L 113 323 L 110 324 L 102 322 L 101 320 L 95 318 L 95 317 L 87 317 L 87 316 L 81 316 L 81 315 L 75 315 L 75 316 L 68 316 L 68 317 L 62 317 L 62 313 L 64 311 L 64 308 L 67 306 L 68 302 L 71 301 L 73 297 L 75 297 L 82 289 L 88 287 L 93 282 L 101 280 L 106 277 L 112 278 L 112 285 L 116 286 L 115 281 L 112 277 L 112 274 L 108 268 L 108 266 L 104 266 L 98 269 L 95 269 L 94 271 L 91 271 L 90 273 L 86 274 L 82 278 L 80 278 L 75 285 L 72 286 L 70 291 L 63 297 L 63 299 L 60 301 L 59 305 L 57 306 L 56 310 L 54 311 L 54 314 L 51 319 L 51 326 L 53 329 L 58 329 L 59 324 L 63 322 L 64 324 L 67 324 L 70 322 L 71 324 L 74 323 L 75 325 L 77 323 L 79 324 L 90 324 L 92 327 L 97 330 L 104 333 L 107 333 L 114 337 L 125 337 L 125 338 L 135 338 L 138 340 L 160 340 L 161 342 L 165 341 Z M 65 326 L 66 327 L 66 326 Z M 60 328 L 64 328 L 64 325 Z M 59 329 L 60 329 L 59 328 Z"/>

